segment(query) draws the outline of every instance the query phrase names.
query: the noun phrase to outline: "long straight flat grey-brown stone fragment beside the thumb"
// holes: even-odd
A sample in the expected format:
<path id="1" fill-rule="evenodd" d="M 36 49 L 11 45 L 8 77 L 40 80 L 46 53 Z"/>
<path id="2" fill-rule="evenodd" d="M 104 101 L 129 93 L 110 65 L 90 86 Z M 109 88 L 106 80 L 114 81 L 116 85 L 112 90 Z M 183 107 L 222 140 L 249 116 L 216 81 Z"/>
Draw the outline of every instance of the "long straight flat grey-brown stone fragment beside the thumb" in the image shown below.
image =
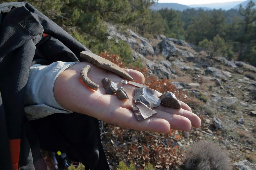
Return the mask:
<path id="1" fill-rule="evenodd" d="M 107 60 L 106 58 L 100 57 L 100 56 L 93 54 L 91 52 L 88 52 L 88 51 L 82 51 L 80 53 L 80 57 L 93 63 L 97 67 L 112 71 L 113 73 L 115 73 L 129 81 L 134 80 L 128 73 L 126 73 L 126 71 L 121 69 L 121 67 L 115 65 L 113 62 Z"/>

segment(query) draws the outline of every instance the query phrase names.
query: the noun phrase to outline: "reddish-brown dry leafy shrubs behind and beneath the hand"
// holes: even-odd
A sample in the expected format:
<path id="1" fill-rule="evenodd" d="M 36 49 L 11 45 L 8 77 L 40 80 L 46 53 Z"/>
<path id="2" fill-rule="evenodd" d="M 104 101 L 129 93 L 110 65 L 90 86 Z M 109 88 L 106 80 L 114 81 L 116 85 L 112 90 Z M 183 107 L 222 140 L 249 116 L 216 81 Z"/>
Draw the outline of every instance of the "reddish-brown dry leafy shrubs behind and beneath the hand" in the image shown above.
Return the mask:
<path id="1" fill-rule="evenodd" d="M 103 53 L 100 56 L 125 67 L 117 55 Z M 168 79 L 159 80 L 156 76 L 149 76 L 149 70 L 144 66 L 131 67 L 131 69 L 140 71 L 145 76 L 144 84 L 150 88 L 162 93 L 171 91 L 179 100 L 185 100 L 186 97 L 182 90 L 177 90 Z M 105 123 L 103 134 L 103 139 L 107 143 L 107 155 L 114 169 L 121 160 L 127 165 L 133 161 L 136 169 L 143 169 L 147 162 L 150 162 L 156 169 L 172 169 L 182 164 L 181 148 L 176 144 L 177 141 L 184 139 L 181 131 L 170 130 L 167 134 L 149 133 L 119 129 Z"/>

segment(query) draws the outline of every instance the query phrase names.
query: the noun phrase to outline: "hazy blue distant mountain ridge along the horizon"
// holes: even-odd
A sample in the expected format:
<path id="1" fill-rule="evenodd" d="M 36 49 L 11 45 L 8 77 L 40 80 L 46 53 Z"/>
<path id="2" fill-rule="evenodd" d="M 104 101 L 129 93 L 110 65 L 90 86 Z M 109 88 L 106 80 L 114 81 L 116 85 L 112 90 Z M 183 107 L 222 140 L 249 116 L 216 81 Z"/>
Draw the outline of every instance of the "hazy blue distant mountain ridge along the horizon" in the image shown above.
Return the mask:
<path id="1" fill-rule="evenodd" d="M 247 3 L 250 0 L 247 1 L 234 1 L 234 2 L 225 2 L 225 3 L 211 3 L 211 4 L 202 4 L 202 5 L 182 5 L 178 3 L 155 3 L 150 7 L 152 10 L 160 10 L 162 8 L 168 8 L 168 9 L 174 9 L 178 11 L 183 11 L 190 8 L 195 8 L 198 10 L 199 8 L 202 8 L 203 10 L 213 10 L 213 9 L 222 9 L 222 10 L 230 10 L 231 8 L 237 9 L 239 8 L 239 5 L 241 4 L 243 8 L 247 5 Z M 256 4 L 256 0 L 253 0 L 253 2 Z M 256 6 L 254 6 L 255 8 Z"/>

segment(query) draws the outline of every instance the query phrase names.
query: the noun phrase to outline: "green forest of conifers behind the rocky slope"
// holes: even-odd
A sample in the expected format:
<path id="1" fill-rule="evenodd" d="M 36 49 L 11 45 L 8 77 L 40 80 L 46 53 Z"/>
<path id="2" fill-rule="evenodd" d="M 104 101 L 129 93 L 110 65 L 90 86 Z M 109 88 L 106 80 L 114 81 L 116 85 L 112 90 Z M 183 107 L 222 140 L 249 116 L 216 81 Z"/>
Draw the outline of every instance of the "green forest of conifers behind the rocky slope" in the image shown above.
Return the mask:
<path id="1" fill-rule="evenodd" d="M 8 2 L 15 1 L 10 0 Z M 17 0 L 16 0 L 17 1 Z M 7 1 L 6 1 L 7 2 Z M 109 51 L 132 62 L 129 45 L 107 39 L 111 23 L 130 28 L 147 38 L 153 35 L 185 40 L 208 50 L 208 57 L 221 55 L 229 60 L 256 66 L 256 10 L 250 1 L 238 10 L 152 11 L 154 0 L 27 0 L 94 53 Z M 221 43 L 221 46 L 216 46 Z M 215 43 L 215 46 L 214 46 Z M 215 49 L 214 49 L 215 48 Z M 218 48 L 218 49 L 216 49 Z"/>

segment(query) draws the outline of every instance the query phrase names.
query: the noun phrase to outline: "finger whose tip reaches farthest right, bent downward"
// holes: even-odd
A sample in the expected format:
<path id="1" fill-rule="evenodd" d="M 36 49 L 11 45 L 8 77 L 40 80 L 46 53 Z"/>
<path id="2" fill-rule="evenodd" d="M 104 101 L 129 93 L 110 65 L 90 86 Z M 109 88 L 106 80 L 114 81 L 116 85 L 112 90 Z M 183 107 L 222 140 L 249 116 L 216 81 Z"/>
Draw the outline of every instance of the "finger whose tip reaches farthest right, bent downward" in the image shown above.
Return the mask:
<path id="1" fill-rule="evenodd" d="M 158 106 L 156 109 L 159 109 L 163 112 L 166 112 L 166 114 L 177 114 L 179 116 L 183 116 L 183 117 L 186 117 L 190 120 L 191 122 L 191 125 L 195 128 L 200 128 L 201 126 L 201 119 L 194 113 L 190 112 L 190 111 L 187 111 L 185 109 L 172 109 L 172 108 L 168 108 L 168 107 L 165 107 L 165 106 Z"/>

